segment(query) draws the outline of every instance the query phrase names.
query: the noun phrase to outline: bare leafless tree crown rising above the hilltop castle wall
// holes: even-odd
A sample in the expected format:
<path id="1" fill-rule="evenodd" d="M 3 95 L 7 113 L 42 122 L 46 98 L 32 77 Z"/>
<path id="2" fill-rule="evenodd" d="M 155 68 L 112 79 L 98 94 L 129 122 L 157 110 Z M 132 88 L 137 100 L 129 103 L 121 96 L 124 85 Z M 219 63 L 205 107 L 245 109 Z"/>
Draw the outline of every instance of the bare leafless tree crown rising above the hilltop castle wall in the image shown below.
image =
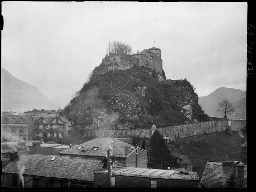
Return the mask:
<path id="1" fill-rule="evenodd" d="M 132 48 L 130 45 L 121 41 L 111 41 L 110 44 L 108 44 L 106 51 L 111 53 L 124 53 L 130 55 L 132 53 Z"/>

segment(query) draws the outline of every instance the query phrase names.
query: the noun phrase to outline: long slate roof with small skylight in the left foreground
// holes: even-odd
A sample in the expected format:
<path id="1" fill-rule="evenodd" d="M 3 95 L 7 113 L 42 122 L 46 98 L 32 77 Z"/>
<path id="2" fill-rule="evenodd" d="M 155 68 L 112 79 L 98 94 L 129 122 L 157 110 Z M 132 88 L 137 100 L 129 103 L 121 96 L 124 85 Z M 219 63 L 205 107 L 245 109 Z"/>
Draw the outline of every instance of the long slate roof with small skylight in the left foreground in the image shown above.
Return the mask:
<path id="1" fill-rule="evenodd" d="M 52 161 L 53 157 L 56 158 Z M 24 166 L 20 167 L 20 164 Z M 6 165 L 2 173 L 20 174 L 23 171 L 23 175 L 93 182 L 94 170 L 102 167 L 102 160 L 23 153 L 21 158 Z"/>

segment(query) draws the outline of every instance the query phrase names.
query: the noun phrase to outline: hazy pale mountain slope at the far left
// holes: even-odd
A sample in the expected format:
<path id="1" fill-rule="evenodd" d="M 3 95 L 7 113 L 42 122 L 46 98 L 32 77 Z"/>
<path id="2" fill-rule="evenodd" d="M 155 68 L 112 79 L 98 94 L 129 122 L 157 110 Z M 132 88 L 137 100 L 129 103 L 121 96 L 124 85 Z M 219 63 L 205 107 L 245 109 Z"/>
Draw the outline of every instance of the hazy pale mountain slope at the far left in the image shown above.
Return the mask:
<path id="1" fill-rule="evenodd" d="M 33 85 L 30 85 L 1 68 L 1 110 L 25 112 L 36 109 L 59 109 Z"/>

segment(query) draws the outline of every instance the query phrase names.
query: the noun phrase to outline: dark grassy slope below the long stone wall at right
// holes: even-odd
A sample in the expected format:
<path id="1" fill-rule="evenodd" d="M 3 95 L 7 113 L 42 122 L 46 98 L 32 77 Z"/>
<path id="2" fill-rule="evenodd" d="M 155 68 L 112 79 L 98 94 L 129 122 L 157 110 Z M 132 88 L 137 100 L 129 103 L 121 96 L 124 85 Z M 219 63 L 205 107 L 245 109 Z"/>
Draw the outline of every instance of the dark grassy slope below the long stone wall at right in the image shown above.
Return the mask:
<path id="1" fill-rule="evenodd" d="M 201 180 L 207 161 L 241 161 L 242 135 L 246 141 L 246 133 L 242 131 L 212 132 L 170 141 L 168 145 L 193 162 L 193 171 Z"/>

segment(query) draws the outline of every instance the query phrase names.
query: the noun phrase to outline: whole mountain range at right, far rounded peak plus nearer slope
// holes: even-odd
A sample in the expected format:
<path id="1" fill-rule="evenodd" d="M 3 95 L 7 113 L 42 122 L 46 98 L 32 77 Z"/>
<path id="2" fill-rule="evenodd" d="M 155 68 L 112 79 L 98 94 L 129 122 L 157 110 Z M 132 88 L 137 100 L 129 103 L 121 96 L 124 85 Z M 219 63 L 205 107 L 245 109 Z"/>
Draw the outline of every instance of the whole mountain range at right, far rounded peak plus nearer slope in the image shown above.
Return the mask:
<path id="1" fill-rule="evenodd" d="M 223 99 L 228 99 L 233 103 L 236 110 L 228 117 L 231 119 L 246 119 L 246 91 L 240 89 L 218 88 L 207 96 L 199 97 L 199 104 L 210 117 L 223 118 L 223 115 L 216 111 L 218 103 Z"/>

